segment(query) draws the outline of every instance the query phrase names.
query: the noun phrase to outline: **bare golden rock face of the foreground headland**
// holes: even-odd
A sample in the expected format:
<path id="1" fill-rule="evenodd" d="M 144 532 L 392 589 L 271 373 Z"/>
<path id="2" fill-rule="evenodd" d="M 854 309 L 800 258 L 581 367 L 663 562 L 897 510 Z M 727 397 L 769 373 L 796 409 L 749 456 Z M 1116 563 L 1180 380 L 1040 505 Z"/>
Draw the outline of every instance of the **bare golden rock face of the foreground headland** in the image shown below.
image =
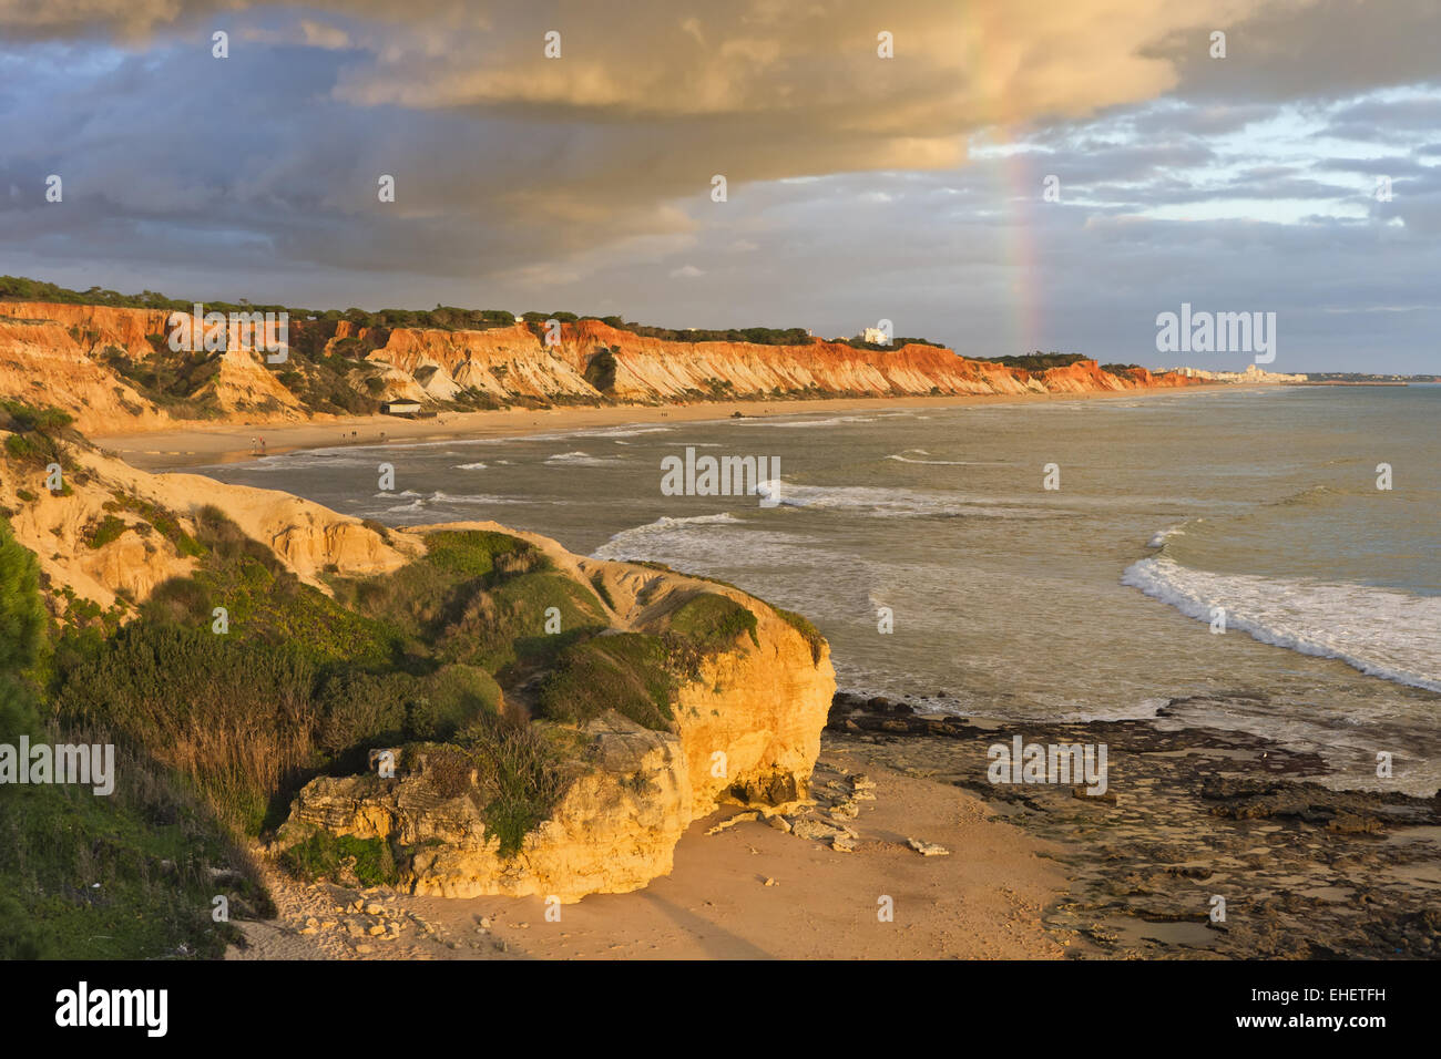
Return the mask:
<path id="1" fill-rule="evenodd" d="M 615 628 L 654 631 L 666 615 L 708 592 L 757 618 L 755 640 L 736 638 L 706 657 L 676 694 L 674 730 L 648 730 L 617 713 L 581 728 L 591 767 L 572 777 L 550 816 L 519 852 L 501 856 L 470 792 L 438 797 L 425 751 L 402 751 L 393 778 L 324 777 L 295 798 L 280 846 L 313 828 L 418 846 L 402 885 L 441 896 L 540 895 L 562 902 L 623 893 L 667 875 L 676 841 L 718 804 L 784 810 L 808 795 L 836 673 L 824 640 L 807 638 L 774 608 L 738 589 L 631 563 L 574 556 L 535 533 L 496 523 L 422 527 L 487 529 L 519 536 L 563 572 L 599 578 Z M 409 755 L 409 759 L 406 758 Z"/>

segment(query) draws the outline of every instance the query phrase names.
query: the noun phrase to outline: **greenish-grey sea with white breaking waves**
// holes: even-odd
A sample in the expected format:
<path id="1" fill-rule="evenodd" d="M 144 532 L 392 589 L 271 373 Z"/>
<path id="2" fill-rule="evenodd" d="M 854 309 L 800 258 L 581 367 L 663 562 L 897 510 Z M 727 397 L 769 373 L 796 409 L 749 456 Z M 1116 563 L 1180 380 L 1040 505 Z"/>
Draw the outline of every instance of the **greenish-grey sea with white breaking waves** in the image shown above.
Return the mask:
<path id="1" fill-rule="evenodd" d="M 1429 795 L 1438 426 L 1441 386 L 844 414 L 817 402 L 203 473 L 392 526 L 494 519 L 572 552 L 719 578 L 811 618 L 843 690 L 924 712 L 1023 723 L 1164 710 L 1159 725 L 1316 752 L 1337 787 Z M 687 448 L 778 460 L 780 477 L 754 496 L 667 496 L 664 461 Z"/>

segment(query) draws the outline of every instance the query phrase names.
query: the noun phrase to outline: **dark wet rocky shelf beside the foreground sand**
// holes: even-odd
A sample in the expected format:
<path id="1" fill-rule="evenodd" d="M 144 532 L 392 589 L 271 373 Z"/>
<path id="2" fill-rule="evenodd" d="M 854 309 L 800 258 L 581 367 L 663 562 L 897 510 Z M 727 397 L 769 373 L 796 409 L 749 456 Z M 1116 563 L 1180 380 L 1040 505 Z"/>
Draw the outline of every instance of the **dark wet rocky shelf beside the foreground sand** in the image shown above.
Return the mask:
<path id="1" fill-rule="evenodd" d="M 1046 922 L 1078 957 L 1441 955 L 1441 798 L 1333 790 L 1314 754 L 1244 732 L 1166 730 L 1169 707 L 1157 716 L 1161 726 L 1007 722 L 837 694 L 824 742 L 963 787 L 1061 843 L 1071 893 Z M 987 751 L 1014 735 L 1104 743 L 1104 795 L 1076 778 L 991 784 Z"/>

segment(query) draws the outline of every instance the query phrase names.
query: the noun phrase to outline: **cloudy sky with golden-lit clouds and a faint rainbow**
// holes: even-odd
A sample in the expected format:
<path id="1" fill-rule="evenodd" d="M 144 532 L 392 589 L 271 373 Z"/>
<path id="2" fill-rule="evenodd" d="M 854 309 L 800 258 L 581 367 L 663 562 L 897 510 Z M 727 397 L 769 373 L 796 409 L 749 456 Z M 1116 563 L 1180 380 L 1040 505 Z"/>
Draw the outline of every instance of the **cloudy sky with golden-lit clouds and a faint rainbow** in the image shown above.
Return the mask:
<path id="1" fill-rule="evenodd" d="M 1441 372 L 1438 40 L 1441 0 L 0 0 L 0 274 L 1252 362 L 1159 350 L 1189 304 L 1275 313 L 1270 370 Z"/>

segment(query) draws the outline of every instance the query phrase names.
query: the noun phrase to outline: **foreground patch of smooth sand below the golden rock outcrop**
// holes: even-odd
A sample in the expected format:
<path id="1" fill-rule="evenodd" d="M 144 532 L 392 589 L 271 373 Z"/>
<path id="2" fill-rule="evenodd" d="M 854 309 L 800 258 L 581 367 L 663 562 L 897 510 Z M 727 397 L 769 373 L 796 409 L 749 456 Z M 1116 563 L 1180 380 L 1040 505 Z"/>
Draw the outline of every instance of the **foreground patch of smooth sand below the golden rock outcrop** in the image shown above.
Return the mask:
<path id="1" fill-rule="evenodd" d="M 1058 935 L 1042 926 L 1045 908 L 1065 892 L 1052 859 L 1062 847 L 996 820 L 955 787 L 870 768 L 857 749 L 837 746 L 817 767 L 817 787 L 855 772 L 876 782 L 876 800 L 850 821 L 855 852 L 751 820 L 706 834 L 738 813 L 722 810 L 690 826 L 669 876 L 563 905 L 559 921 L 546 918 L 540 898 L 414 898 L 268 872 L 280 916 L 242 922 L 248 947 L 226 958 L 1063 957 Z M 921 856 L 909 837 L 950 854 Z M 893 901 L 889 922 L 878 915 L 883 898 Z M 356 901 L 363 908 L 347 911 Z"/>

